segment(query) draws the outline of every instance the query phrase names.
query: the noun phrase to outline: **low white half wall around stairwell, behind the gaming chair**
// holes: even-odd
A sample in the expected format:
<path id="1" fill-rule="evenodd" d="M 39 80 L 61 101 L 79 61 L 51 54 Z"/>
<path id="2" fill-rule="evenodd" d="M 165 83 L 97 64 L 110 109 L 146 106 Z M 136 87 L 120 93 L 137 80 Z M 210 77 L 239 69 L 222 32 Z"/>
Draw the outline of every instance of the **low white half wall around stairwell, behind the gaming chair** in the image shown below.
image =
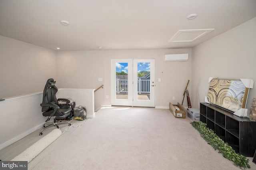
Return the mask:
<path id="1" fill-rule="evenodd" d="M 0 102 L 0 150 L 42 128 L 46 118 L 42 116 L 42 92 L 10 97 Z M 57 98 L 72 98 L 76 105 L 86 107 L 86 117 L 94 118 L 93 89 L 59 89 Z M 7 121 L 6 121 L 7 120 Z M 51 120 L 53 121 L 53 120 Z M 6 130 L 8 129 L 8 130 Z"/>

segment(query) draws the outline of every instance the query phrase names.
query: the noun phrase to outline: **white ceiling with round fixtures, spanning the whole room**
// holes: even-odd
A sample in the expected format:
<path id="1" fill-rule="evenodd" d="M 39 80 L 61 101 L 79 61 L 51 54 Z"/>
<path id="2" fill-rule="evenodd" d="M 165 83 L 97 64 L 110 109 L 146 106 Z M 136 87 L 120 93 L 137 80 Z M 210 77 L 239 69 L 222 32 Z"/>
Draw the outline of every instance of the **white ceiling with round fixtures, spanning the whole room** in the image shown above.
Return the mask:
<path id="1" fill-rule="evenodd" d="M 255 9 L 256 0 L 0 0 L 0 35 L 60 51 L 191 48 L 256 17 Z M 194 29 L 214 30 L 171 40 Z"/>

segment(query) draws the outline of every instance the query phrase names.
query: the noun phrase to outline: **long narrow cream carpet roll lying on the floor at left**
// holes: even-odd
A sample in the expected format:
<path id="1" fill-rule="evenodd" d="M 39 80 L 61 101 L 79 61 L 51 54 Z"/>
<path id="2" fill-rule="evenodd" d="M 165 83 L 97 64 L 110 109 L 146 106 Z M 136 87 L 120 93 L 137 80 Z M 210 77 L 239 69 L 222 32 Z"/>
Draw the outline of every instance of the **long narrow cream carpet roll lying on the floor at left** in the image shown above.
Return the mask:
<path id="1" fill-rule="evenodd" d="M 54 140 L 56 140 L 61 135 L 61 130 L 55 128 L 49 134 L 38 140 L 36 143 L 32 144 L 29 148 L 24 150 L 18 156 L 12 159 L 12 161 L 28 161 L 30 162 L 35 158 L 40 152 L 42 152 L 47 146 L 49 146 Z"/>

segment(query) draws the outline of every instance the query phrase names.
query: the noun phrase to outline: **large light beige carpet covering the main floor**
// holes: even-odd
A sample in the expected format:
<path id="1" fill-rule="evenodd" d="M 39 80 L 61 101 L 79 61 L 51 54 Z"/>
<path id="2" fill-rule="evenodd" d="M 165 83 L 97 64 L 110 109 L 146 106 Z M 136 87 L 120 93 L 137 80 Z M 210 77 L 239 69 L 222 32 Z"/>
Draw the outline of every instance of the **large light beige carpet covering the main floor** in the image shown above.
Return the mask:
<path id="1" fill-rule="evenodd" d="M 207 144 L 191 121 L 174 118 L 168 109 L 102 108 L 38 164 L 28 166 L 32 170 L 240 170 Z"/>

